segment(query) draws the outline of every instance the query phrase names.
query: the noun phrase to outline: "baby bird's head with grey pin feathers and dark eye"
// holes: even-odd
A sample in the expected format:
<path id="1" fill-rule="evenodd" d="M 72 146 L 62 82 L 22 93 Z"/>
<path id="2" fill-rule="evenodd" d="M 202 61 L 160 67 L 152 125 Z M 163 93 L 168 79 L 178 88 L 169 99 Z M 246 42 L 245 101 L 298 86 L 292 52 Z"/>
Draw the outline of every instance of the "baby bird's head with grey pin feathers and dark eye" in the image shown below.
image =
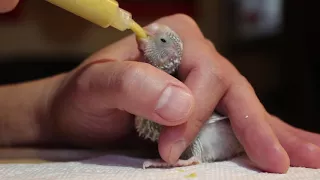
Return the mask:
<path id="1" fill-rule="evenodd" d="M 183 43 L 178 34 L 162 24 L 152 24 L 145 31 L 147 38 L 137 38 L 144 60 L 169 74 L 175 72 L 183 54 Z"/>

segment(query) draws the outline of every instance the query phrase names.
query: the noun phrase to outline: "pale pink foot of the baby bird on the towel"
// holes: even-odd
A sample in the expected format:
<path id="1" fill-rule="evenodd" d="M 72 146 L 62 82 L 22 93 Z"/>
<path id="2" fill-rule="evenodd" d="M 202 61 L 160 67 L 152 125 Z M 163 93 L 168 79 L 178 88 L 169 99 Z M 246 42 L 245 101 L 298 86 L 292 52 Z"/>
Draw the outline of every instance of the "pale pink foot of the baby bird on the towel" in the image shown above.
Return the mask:
<path id="1" fill-rule="evenodd" d="M 176 163 L 174 164 L 169 164 L 162 159 L 153 159 L 153 160 L 146 160 L 143 162 L 143 169 L 146 168 L 168 168 L 168 167 L 183 167 L 183 166 L 191 166 L 191 165 L 196 165 L 200 164 L 201 161 L 199 158 L 193 156 L 189 158 L 188 160 L 182 160 L 179 159 Z"/>

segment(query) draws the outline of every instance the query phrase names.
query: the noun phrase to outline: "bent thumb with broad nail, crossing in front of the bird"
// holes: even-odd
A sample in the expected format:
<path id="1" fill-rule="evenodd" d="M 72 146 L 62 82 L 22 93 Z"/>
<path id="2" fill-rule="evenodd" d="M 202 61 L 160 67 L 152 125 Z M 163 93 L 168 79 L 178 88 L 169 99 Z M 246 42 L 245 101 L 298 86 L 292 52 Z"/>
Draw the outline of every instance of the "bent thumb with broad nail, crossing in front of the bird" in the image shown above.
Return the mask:
<path id="1" fill-rule="evenodd" d="M 91 63 L 77 84 L 90 94 L 87 107 L 120 109 L 165 126 L 186 122 L 194 108 L 191 91 L 182 82 L 142 62 Z"/>

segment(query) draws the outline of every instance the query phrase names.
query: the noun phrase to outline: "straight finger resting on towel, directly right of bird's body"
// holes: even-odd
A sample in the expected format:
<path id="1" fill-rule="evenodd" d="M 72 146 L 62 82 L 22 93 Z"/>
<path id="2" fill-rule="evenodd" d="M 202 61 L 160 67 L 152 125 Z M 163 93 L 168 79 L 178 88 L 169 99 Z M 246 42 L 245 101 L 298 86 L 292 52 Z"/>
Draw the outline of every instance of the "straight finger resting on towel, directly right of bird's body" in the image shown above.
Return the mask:
<path id="1" fill-rule="evenodd" d="M 250 159 L 268 172 L 285 173 L 289 157 L 267 123 L 267 112 L 245 78 L 235 78 L 219 108 L 228 114 Z"/>

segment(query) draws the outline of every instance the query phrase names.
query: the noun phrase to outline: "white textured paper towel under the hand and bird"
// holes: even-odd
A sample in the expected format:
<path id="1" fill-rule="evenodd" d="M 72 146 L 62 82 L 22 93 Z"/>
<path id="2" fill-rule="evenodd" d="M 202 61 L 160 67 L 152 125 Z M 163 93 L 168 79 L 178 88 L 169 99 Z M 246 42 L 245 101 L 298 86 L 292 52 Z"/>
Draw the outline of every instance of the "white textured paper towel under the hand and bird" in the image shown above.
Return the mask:
<path id="1" fill-rule="evenodd" d="M 263 173 L 246 157 L 171 169 L 142 169 L 143 159 L 106 155 L 84 161 L 1 164 L 1 180 L 317 180 L 320 170 L 291 167 L 287 174 Z"/>

